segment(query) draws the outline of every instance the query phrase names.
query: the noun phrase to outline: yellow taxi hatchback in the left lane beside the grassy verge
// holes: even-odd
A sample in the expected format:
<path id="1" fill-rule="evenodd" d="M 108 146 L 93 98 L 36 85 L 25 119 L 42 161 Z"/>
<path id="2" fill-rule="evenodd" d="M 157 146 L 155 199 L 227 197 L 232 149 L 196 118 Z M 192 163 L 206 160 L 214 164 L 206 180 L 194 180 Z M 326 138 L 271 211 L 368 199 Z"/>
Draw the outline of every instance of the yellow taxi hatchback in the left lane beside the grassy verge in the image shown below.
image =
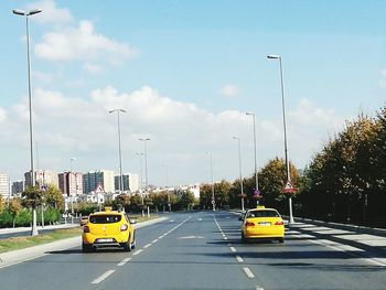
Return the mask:
<path id="1" fill-rule="evenodd" d="M 83 230 L 82 250 L 121 247 L 130 251 L 136 247 L 135 223 L 122 212 L 106 211 L 90 214 Z"/>

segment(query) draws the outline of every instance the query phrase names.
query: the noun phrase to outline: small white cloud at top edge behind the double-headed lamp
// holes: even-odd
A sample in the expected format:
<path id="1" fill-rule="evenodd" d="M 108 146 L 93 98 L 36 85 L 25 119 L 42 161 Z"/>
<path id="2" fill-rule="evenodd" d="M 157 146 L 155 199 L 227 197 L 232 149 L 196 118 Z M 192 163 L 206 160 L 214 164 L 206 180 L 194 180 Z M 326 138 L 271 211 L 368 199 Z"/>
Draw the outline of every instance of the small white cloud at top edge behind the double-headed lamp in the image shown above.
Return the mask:
<path id="1" fill-rule="evenodd" d="M 73 15 L 65 8 L 57 8 L 55 1 L 43 0 L 29 4 L 29 9 L 42 9 L 39 17 L 32 18 L 39 23 L 65 24 L 73 21 Z"/>

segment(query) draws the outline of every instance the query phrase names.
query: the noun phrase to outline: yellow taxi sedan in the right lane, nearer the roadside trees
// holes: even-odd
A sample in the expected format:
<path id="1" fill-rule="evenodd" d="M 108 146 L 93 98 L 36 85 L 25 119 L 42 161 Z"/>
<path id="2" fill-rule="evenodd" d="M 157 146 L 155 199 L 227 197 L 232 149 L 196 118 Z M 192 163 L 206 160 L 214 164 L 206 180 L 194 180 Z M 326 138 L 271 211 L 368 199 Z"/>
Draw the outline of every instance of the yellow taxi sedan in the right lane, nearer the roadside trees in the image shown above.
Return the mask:
<path id="1" fill-rule="evenodd" d="M 242 221 L 243 241 L 261 238 L 285 243 L 285 223 L 278 211 L 258 206 L 247 211 Z"/>

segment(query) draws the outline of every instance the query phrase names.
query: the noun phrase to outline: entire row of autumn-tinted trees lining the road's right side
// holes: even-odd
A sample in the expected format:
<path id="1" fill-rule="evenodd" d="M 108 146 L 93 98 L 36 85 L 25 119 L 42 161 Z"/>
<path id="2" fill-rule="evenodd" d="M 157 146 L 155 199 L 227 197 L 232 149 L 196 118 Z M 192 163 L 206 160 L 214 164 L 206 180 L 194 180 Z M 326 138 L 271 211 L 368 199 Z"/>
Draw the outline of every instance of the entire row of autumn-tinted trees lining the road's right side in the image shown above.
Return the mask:
<path id="1" fill-rule="evenodd" d="M 375 118 L 360 115 L 330 138 L 302 176 L 290 164 L 297 216 L 386 227 L 386 108 Z M 275 158 L 258 172 L 260 198 L 255 198 L 255 175 L 243 180 L 246 207 L 257 202 L 288 214 L 282 159 Z M 214 184 L 216 206 L 240 208 L 240 181 Z M 212 184 L 201 187 L 201 206 L 212 207 Z"/>

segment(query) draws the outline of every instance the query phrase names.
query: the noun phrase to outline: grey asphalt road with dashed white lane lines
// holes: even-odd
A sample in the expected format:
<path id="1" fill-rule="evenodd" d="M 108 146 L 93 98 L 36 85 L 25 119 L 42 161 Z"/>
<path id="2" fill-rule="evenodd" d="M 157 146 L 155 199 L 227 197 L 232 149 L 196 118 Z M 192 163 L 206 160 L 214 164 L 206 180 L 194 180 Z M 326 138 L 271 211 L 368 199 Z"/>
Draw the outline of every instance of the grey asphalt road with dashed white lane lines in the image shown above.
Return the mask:
<path id="1" fill-rule="evenodd" d="M 386 289 L 386 266 L 294 229 L 285 244 L 242 244 L 237 216 L 170 214 L 131 253 L 81 247 L 0 269 L 0 289 Z M 79 240 L 81 244 L 81 240 Z"/>

